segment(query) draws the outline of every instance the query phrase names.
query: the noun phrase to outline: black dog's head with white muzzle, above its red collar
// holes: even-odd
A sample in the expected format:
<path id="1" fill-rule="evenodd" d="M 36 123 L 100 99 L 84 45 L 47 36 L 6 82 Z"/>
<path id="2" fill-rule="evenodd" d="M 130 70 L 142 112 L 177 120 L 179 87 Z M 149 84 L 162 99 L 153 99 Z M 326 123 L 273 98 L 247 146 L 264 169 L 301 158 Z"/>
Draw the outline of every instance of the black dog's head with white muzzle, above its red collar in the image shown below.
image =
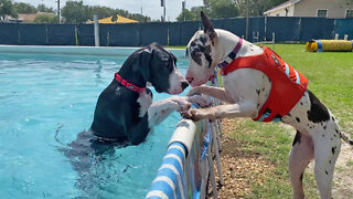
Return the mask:
<path id="1" fill-rule="evenodd" d="M 159 93 L 179 94 L 189 85 L 176 69 L 176 57 L 158 43 L 136 51 L 127 62 Z"/>

